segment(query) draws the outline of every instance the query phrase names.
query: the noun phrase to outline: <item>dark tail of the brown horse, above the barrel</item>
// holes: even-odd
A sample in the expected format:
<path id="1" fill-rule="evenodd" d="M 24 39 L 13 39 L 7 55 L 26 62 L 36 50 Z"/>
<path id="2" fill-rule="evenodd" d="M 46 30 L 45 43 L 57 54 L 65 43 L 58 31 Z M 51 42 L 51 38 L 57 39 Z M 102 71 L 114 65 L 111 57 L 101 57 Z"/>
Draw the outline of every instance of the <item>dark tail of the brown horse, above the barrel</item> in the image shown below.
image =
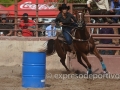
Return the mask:
<path id="1" fill-rule="evenodd" d="M 55 53 L 55 40 L 50 39 L 47 43 L 46 54 L 52 55 Z"/>

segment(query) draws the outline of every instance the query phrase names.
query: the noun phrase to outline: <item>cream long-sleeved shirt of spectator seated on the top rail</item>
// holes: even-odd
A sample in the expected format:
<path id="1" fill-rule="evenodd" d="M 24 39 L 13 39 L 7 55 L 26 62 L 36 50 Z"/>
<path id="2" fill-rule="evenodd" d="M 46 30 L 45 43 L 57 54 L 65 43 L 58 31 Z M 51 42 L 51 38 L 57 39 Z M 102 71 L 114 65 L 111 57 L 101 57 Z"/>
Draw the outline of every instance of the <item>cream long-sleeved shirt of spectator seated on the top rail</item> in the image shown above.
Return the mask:
<path id="1" fill-rule="evenodd" d="M 95 2 L 98 6 L 98 9 L 106 9 L 107 11 L 110 10 L 108 0 L 87 0 L 87 4 L 90 4 L 91 2 Z"/>

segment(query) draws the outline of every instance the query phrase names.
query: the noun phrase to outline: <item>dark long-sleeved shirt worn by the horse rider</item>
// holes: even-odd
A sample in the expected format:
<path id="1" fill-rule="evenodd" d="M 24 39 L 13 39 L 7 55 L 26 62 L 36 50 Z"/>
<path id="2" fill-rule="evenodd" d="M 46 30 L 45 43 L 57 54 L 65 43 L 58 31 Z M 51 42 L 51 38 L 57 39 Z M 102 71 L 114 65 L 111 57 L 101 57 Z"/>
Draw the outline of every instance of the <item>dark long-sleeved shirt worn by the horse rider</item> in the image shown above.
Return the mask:
<path id="1" fill-rule="evenodd" d="M 73 20 L 73 21 L 72 21 Z M 55 22 L 62 22 L 63 24 L 70 24 L 71 22 L 77 22 L 76 18 L 69 12 L 66 13 L 66 18 L 62 16 L 62 13 L 60 12 L 58 16 L 56 17 Z"/>

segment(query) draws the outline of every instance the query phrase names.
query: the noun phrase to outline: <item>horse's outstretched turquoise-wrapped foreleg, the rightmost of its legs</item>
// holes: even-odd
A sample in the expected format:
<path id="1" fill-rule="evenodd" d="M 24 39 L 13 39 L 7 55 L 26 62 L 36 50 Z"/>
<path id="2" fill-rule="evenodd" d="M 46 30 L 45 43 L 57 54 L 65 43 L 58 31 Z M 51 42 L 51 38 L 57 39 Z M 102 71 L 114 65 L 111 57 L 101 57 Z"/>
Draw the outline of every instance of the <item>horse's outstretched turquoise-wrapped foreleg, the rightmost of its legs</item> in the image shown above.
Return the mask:
<path id="1" fill-rule="evenodd" d="M 100 60 L 101 66 L 102 66 L 102 69 L 103 69 L 104 73 L 108 73 L 108 72 L 107 72 L 107 69 L 106 69 L 106 65 L 105 65 L 105 63 L 104 63 L 104 61 L 103 61 L 103 58 L 100 56 L 100 54 L 99 54 L 99 52 L 98 52 L 98 50 L 97 50 L 96 47 L 94 48 L 93 53 L 94 53 L 95 56 Z"/>

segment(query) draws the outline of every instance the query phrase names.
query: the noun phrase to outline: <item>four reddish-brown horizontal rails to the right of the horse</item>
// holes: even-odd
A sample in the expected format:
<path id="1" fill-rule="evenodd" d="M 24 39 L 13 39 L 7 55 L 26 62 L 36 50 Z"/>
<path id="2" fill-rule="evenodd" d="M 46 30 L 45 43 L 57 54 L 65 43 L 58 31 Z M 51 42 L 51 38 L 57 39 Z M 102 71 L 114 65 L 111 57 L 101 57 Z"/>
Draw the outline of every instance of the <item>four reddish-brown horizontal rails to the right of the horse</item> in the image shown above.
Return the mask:
<path id="1" fill-rule="evenodd" d="M 85 17 L 120 17 L 120 15 L 85 15 Z M 120 28 L 119 23 L 105 24 L 105 23 L 90 23 L 86 24 L 88 30 L 90 28 Z M 90 32 L 90 31 L 89 31 Z M 119 34 L 91 34 L 94 39 L 120 39 Z M 97 44 L 99 50 L 120 50 L 119 44 Z"/>

